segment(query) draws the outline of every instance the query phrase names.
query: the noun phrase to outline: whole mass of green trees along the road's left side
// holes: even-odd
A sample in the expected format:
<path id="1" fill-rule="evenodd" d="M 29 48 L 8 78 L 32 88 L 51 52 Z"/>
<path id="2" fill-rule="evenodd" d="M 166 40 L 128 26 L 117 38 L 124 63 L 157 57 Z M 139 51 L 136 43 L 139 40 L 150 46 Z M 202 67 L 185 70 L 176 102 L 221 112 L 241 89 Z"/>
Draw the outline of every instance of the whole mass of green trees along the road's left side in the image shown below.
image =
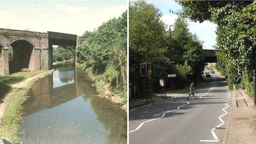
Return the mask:
<path id="1" fill-rule="evenodd" d="M 199 81 L 204 69 L 202 42 L 190 33 L 188 23 L 182 17 L 176 19 L 172 29 L 165 25 L 162 13 L 145 1 L 130 3 L 129 75 L 132 97 L 143 95 L 146 90 L 157 90 L 159 79 L 170 88 L 167 74 L 176 74 L 173 84 L 182 89 L 190 81 Z M 140 76 L 140 64 L 147 63 L 148 76 Z"/>

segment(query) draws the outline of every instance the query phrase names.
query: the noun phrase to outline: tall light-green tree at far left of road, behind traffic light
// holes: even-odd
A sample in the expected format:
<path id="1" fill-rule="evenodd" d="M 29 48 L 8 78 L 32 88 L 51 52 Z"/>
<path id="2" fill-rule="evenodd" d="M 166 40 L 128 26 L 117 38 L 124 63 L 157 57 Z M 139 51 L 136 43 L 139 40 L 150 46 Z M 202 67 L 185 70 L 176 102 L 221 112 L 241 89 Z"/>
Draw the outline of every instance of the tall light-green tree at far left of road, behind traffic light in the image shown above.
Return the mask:
<path id="1" fill-rule="evenodd" d="M 140 81 L 140 63 L 168 65 L 167 42 L 162 14 L 152 4 L 138 1 L 130 4 L 129 59 L 130 78 Z"/>

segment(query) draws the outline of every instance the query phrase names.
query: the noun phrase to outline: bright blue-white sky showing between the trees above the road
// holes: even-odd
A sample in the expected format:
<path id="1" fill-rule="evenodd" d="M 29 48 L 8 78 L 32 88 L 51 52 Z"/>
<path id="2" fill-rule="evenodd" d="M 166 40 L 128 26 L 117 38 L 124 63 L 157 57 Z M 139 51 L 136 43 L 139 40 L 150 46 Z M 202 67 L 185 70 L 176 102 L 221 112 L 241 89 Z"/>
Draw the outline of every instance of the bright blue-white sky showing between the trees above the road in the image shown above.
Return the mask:
<path id="1" fill-rule="evenodd" d="M 170 9 L 174 11 L 182 10 L 182 6 L 174 1 L 147 1 L 147 3 L 156 6 L 163 14 L 162 20 L 166 25 L 173 25 L 178 15 L 169 12 Z M 216 24 L 211 22 L 191 22 L 188 20 L 189 30 L 196 34 L 201 41 L 204 41 L 203 49 L 215 49 L 216 44 Z"/>

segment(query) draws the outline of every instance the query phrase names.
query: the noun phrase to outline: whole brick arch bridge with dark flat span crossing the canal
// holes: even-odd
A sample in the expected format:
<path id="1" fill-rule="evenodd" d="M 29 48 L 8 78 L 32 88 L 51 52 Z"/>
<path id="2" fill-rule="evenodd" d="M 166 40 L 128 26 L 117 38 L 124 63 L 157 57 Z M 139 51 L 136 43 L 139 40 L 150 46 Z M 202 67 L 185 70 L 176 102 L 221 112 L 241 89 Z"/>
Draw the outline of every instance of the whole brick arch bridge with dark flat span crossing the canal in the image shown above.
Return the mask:
<path id="1" fill-rule="evenodd" d="M 26 30 L 0 29 L 0 74 L 9 74 L 9 65 L 31 70 L 52 69 L 52 45 L 77 46 L 86 39 L 73 34 L 47 31 L 40 33 Z M 9 62 L 9 49 L 13 50 L 13 62 Z M 74 58 L 76 63 L 77 52 Z"/>

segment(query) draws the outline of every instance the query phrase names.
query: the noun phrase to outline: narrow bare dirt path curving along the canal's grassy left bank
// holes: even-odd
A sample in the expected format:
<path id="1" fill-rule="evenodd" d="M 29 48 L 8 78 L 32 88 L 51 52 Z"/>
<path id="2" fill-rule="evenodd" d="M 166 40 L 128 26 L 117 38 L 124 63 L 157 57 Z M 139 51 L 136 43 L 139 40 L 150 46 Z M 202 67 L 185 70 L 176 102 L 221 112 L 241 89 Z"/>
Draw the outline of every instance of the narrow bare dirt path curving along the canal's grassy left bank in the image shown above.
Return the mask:
<path id="1" fill-rule="evenodd" d="M 27 78 L 22 82 L 10 85 L 11 86 L 10 92 L 6 94 L 6 96 L 3 99 L 3 102 L 0 104 L 0 120 L 2 119 L 2 116 L 4 114 L 4 109 L 6 108 L 6 105 L 8 104 L 8 99 L 10 98 L 10 95 L 12 95 L 19 88 L 23 88 L 24 86 L 26 86 L 29 82 L 36 81 L 37 79 L 41 79 L 41 78 L 48 76 L 49 73 L 52 73 L 52 71 L 53 70 L 42 72 L 34 77 Z"/>

